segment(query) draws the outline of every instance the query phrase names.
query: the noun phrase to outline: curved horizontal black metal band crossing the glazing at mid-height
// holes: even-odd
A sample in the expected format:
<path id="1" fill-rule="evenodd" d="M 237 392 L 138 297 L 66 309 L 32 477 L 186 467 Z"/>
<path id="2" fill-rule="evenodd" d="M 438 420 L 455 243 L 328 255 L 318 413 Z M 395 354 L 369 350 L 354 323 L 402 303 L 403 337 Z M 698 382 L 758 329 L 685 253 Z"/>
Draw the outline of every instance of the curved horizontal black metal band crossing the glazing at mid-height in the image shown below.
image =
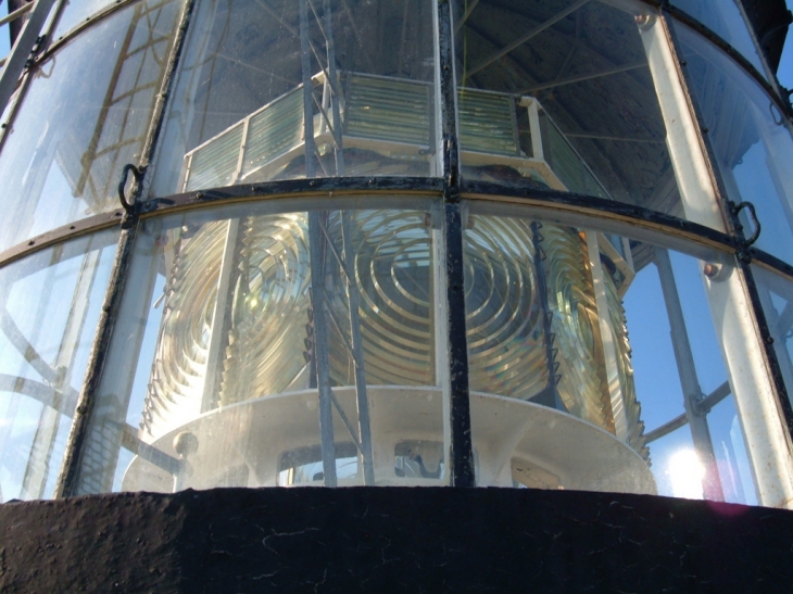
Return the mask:
<path id="1" fill-rule="evenodd" d="M 741 251 L 738 238 L 709 227 L 667 215 L 642 206 L 625 204 L 587 194 L 556 190 L 540 190 L 519 185 L 467 181 L 461 187 L 462 199 L 491 204 L 521 205 L 541 218 L 552 216 L 568 224 L 591 224 L 599 229 L 626 236 L 655 238 L 655 242 L 697 244 L 725 253 Z M 203 210 L 222 204 L 260 202 L 275 199 L 354 198 L 366 194 L 437 194 L 443 192 L 443 180 L 431 177 L 339 177 L 290 179 L 267 184 L 212 188 L 156 198 L 140 203 L 140 216 L 164 216 L 176 212 Z M 373 203 L 376 206 L 376 204 Z M 100 231 L 123 219 L 124 211 L 95 215 L 14 245 L 0 253 L 0 267 L 55 243 Z M 676 241 L 677 240 L 677 241 Z M 690 250 L 689 250 L 690 251 Z M 793 266 L 752 248 L 752 258 L 766 267 L 793 278 Z"/>

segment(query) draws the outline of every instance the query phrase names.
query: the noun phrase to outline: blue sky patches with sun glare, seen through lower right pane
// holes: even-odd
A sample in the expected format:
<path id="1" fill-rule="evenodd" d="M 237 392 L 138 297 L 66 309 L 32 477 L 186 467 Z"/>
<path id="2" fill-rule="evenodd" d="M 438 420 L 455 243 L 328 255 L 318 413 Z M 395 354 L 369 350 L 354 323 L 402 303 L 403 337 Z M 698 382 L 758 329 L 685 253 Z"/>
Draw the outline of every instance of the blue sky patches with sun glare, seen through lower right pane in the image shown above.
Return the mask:
<path id="1" fill-rule="evenodd" d="M 713 327 L 697 260 L 670 252 L 678 294 L 704 394 L 727 379 Z M 645 432 L 652 431 L 684 412 L 683 392 L 678 379 L 669 320 L 666 314 L 658 274 L 653 264 L 639 271 L 625 296 L 626 319 L 631 344 L 637 397 L 642 406 Z M 732 396 L 708 414 L 710 437 L 721 477 L 725 497 L 733 503 L 757 503 L 752 471 Z M 693 497 L 678 475 L 684 473 L 675 456 L 693 451 L 691 430 L 681 427 L 650 444 L 652 470 L 659 495 Z M 677 470 L 676 470 L 677 468 Z M 677 475 L 676 475 L 677 472 Z M 676 484 L 678 481 L 678 484 Z M 687 494 L 681 494 L 683 491 Z M 701 496 L 701 490 L 700 495 Z"/>

